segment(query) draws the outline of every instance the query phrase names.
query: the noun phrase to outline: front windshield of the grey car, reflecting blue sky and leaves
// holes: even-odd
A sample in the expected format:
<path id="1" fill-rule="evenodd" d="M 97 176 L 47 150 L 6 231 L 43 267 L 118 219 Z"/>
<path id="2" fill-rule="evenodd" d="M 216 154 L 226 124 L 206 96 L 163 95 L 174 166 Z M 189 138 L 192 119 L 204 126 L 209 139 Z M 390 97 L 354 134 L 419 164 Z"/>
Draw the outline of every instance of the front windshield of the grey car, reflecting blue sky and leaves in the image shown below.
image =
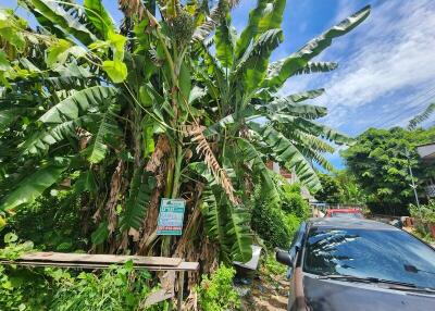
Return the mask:
<path id="1" fill-rule="evenodd" d="M 435 251 L 401 231 L 312 228 L 303 270 L 435 288 Z"/>

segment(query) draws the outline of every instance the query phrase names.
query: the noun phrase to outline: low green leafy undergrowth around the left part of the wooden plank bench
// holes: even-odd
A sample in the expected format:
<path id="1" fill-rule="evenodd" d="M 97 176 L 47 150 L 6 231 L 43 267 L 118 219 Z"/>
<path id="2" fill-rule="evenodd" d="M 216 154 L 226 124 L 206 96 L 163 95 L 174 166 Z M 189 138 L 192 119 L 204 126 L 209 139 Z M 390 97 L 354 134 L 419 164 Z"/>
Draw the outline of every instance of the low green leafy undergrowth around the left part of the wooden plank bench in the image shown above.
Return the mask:
<path id="1" fill-rule="evenodd" d="M 13 260 L 32 250 L 30 241 L 20 242 L 8 233 L 0 259 Z M 150 274 L 135 272 L 133 263 L 112 266 L 100 274 L 78 275 L 62 269 L 24 269 L 0 265 L 0 310 L 138 310 L 151 293 Z M 167 302 L 148 310 L 166 310 Z"/>

